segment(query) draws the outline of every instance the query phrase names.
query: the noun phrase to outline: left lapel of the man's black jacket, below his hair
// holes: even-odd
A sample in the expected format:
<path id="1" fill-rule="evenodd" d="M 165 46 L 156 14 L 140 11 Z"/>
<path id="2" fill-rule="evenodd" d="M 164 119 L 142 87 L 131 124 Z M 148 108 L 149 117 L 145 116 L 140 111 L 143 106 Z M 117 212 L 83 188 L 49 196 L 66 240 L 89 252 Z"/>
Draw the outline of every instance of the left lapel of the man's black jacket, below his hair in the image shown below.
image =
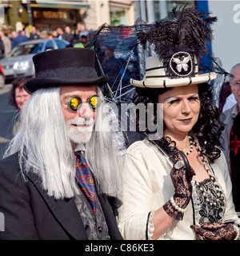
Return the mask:
<path id="1" fill-rule="evenodd" d="M 62 226 L 63 230 L 74 239 L 87 240 L 82 218 L 78 213 L 74 198 L 54 199 L 46 194 L 46 190 L 42 190 L 41 182 L 39 182 L 39 177 L 36 174 L 27 174 L 27 178 L 34 184 L 49 207 L 51 214 L 58 219 L 58 223 Z"/>

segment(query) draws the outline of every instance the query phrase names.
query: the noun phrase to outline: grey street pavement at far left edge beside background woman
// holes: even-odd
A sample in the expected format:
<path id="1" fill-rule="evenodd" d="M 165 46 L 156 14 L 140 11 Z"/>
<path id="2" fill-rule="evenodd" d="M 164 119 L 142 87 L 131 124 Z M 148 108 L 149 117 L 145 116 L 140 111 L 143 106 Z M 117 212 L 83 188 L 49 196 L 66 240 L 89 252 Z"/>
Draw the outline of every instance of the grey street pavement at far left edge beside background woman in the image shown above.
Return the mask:
<path id="1" fill-rule="evenodd" d="M 12 138 L 12 129 L 14 124 L 14 106 L 9 104 L 11 84 L 6 84 L 0 89 L 0 159 L 6 149 L 7 142 Z"/>

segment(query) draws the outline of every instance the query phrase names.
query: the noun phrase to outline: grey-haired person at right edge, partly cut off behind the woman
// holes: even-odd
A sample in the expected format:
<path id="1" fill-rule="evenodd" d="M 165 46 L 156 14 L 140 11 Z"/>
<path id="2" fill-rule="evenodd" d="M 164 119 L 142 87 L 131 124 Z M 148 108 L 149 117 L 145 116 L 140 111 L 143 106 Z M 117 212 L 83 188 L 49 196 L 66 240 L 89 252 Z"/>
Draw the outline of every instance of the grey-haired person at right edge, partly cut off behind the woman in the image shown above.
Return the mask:
<path id="1" fill-rule="evenodd" d="M 226 157 L 228 169 L 230 171 L 230 129 L 233 126 L 234 118 L 240 112 L 240 63 L 236 64 L 230 70 L 230 89 L 236 103 L 230 109 L 223 111 L 221 121 L 224 125 L 224 130 L 221 134 L 221 149 Z"/>

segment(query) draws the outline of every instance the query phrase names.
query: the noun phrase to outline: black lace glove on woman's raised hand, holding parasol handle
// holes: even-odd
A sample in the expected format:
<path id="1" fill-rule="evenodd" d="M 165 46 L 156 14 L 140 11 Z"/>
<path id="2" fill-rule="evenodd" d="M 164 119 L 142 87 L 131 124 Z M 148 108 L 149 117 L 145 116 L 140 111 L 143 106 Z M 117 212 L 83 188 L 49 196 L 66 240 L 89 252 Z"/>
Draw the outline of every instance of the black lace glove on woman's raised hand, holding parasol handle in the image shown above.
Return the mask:
<path id="1" fill-rule="evenodd" d="M 190 202 L 192 194 L 192 185 L 191 180 L 195 175 L 194 170 L 190 168 L 190 172 L 186 170 L 186 166 L 180 160 L 178 160 L 173 169 L 170 172 L 170 177 L 174 184 L 175 193 L 174 193 L 174 202 L 178 206 L 177 209 L 186 209 L 186 206 Z M 176 220 L 182 220 L 183 213 L 181 210 L 177 210 L 176 206 L 172 202 L 166 202 L 163 206 L 163 209 L 166 211 L 170 217 L 174 217 Z"/>

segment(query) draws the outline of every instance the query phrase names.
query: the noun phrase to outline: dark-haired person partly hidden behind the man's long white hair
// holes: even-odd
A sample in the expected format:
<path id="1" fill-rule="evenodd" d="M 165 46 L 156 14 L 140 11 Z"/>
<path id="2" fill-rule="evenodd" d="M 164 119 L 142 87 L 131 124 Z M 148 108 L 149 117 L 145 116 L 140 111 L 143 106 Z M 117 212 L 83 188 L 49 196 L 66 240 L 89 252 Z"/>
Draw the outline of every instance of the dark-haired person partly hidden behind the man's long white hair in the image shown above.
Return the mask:
<path id="1" fill-rule="evenodd" d="M 25 102 L 30 98 L 30 94 L 26 92 L 23 88 L 24 82 L 30 77 L 25 78 L 16 78 L 12 82 L 12 90 L 10 91 L 9 103 L 14 106 L 17 110 L 17 115 L 15 117 L 13 135 L 15 136 L 18 133 L 20 121 L 19 121 L 19 111 L 22 110 Z"/>

